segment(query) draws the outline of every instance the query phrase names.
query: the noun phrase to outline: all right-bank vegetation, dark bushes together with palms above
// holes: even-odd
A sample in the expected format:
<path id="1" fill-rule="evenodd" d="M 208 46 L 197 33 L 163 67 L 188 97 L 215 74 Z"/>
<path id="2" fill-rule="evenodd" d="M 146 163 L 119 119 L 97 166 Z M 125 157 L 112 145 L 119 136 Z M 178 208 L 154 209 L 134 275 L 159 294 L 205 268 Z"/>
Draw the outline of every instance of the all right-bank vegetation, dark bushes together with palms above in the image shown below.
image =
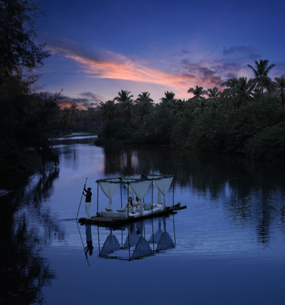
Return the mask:
<path id="1" fill-rule="evenodd" d="M 133 100 L 121 90 L 98 107 L 104 123 L 95 144 L 168 144 L 284 161 L 284 75 L 271 80 L 274 65 L 268 60 L 248 66 L 252 79 L 227 80 L 222 91 L 196 86 L 188 90 L 194 95 L 188 100 L 165 92 L 155 104 L 148 92 Z"/>

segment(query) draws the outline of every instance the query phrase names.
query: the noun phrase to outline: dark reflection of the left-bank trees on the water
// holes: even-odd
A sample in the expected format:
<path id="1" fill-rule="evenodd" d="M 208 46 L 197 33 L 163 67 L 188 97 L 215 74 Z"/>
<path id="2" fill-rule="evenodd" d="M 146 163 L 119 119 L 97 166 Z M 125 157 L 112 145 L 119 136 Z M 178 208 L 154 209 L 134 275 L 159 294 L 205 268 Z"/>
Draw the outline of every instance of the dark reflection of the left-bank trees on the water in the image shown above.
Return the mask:
<path id="1" fill-rule="evenodd" d="M 43 304 L 41 289 L 56 277 L 41 257 L 41 248 L 54 237 L 65 239 L 65 232 L 43 204 L 51 196 L 58 173 L 58 168 L 51 168 L 30 181 L 16 181 L 19 187 L 13 195 L 1 200 L 0 298 L 5 304 Z"/>

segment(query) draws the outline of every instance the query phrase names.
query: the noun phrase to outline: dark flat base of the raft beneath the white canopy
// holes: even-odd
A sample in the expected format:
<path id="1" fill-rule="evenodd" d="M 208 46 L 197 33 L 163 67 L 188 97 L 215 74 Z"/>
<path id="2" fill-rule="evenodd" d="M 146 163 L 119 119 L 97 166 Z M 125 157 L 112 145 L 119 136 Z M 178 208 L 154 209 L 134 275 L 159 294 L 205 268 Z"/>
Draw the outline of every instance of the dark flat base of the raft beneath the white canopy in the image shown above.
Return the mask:
<path id="1" fill-rule="evenodd" d="M 100 225 L 100 226 L 117 226 L 117 225 L 124 225 L 125 223 L 135 223 L 140 220 L 144 220 L 146 218 L 153 218 L 157 217 L 163 214 L 168 214 L 168 213 L 175 213 L 176 210 L 182 210 L 184 208 L 187 208 L 187 205 L 180 206 L 181 203 L 177 203 L 173 206 L 166 206 L 164 210 L 158 210 L 153 213 L 147 214 L 147 215 L 142 215 L 142 216 L 137 216 L 134 217 L 133 215 L 129 215 L 128 218 L 113 218 L 113 217 L 103 217 L 103 216 L 91 216 L 91 218 L 80 218 L 78 220 L 81 225 L 84 224 L 94 224 L 94 225 Z"/>

